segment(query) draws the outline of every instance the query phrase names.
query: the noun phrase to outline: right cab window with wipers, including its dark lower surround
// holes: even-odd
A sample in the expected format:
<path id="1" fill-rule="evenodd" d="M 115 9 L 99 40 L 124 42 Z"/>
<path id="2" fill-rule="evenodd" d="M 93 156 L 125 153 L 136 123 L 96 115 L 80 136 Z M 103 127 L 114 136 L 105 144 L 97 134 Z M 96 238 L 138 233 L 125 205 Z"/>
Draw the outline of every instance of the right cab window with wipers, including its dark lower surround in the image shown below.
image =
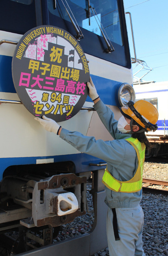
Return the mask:
<path id="1" fill-rule="evenodd" d="M 71 18 L 82 31 L 80 44 L 85 53 L 131 68 L 131 58 L 126 33 L 126 21 L 122 0 L 53 0 L 48 1 L 49 24 L 64 28 L 75 36 Z M 90 4 L 90 8 L 88 7 Z M 67 10 L 66 10 L 67 9 Z M 100 29 L 101 28 L 101 29 Z M 114 51 L 107 53 L 103 34 Z"/>

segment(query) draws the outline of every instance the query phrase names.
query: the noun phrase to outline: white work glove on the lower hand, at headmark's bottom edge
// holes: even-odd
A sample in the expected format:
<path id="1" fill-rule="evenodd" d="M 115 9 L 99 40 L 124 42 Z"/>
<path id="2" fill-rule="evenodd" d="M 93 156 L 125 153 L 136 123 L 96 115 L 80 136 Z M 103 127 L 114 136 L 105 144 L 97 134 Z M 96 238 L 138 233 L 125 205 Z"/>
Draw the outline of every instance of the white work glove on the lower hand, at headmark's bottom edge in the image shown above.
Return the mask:
<path id="1" fill-rule="evenodd" d="M 42 116 L 42 119 L 39 117 L 34 117 L 35 120 L 37 120 L 48 132 L 54 132 L 58 135 L 58 131 L 61 128 L 59 124 L 56 123 L 56 121 L 46 117 Z"/>

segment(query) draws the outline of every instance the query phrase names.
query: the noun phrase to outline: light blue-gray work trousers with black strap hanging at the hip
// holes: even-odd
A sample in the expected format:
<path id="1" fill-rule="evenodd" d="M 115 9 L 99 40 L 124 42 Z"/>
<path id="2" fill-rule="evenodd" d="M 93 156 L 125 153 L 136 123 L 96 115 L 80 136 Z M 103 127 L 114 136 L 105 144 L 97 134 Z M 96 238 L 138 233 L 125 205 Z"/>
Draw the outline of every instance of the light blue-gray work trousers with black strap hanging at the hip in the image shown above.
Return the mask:
<path id="1" fill-rule="evenodd" d="M 142 230 L 144 213 L 139 205 L 134 208 L 116 208 L 118 233 L 120 240 L 115 241 L 113 213 L 107 212 L 107 240 L 110 256 L 145 256 L 142 248 Z"/>

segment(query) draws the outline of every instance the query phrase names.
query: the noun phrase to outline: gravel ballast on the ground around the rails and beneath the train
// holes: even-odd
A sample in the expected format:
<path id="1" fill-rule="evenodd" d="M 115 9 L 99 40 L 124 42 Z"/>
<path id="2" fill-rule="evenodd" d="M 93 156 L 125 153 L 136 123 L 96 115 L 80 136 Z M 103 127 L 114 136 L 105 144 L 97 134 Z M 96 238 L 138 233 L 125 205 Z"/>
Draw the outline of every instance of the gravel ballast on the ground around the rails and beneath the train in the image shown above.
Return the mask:
<path id="1" fill-rule="evenodd" d="M 167 163 L 144 163 L 144 178 L 168 181 Z M 156 189 L 167 189 L 164 186 L 149 186 Z M 89 210 L 93 211 L 92 196 L 89 194 L 91 182 L 87 183 L 87 201 Z M 168 198 L 167 195 L 143 193 L 141 206 L 144 212 L 143 248 L 148 255 L 168 255 Z M 61 226 L 61 230 L 54 242 L 76 237 L 88 232 L 94 222 L 94 213 L 84 216 Z M 80 256 L 80 255 L 79 255 Z M 108 247 L 96 252 L 94 256 L 109 256 Z"/>

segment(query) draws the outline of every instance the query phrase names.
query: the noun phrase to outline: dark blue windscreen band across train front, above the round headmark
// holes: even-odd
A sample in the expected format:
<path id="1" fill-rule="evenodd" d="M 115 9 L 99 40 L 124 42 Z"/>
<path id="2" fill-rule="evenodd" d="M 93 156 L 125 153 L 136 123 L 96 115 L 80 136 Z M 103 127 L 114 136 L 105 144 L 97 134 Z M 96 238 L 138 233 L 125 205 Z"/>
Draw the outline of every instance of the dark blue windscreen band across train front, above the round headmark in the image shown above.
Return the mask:
<path id="1" fill-rule="evenodd" d="M 1 0 L 0 30 L 25 34 L 48 24 L 76 36 L 66 9 L 82 31 L 85 54 L 131 69 L 123 0 Z"/>

